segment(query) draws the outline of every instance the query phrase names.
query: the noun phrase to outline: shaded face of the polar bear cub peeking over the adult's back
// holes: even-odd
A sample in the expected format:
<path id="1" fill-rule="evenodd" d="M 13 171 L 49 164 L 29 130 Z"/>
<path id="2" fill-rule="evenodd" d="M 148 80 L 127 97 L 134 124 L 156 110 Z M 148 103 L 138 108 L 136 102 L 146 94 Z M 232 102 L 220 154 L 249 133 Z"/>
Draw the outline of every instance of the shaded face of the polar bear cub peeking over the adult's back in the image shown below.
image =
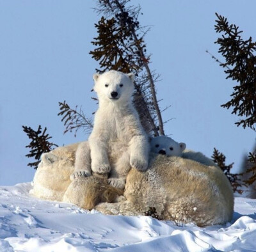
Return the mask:
<path id="1" fill-rule="evenodd" d="M 167 155 L 168 157 L 180 157 L 186 148 L 186 144 L 177 143 L 172 138 L 168 138 L 167 136 L 157 136 L 156 138 L 150 139 L 150 148 L 151 152 L 156 154 Z"/>

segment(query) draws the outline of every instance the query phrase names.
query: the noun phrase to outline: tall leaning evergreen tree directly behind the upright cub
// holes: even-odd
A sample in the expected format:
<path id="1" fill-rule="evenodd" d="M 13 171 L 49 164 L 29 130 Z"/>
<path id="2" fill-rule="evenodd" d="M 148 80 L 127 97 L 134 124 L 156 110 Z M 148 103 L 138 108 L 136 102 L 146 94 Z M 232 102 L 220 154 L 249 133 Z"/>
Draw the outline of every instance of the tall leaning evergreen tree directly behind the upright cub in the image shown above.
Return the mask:
<path id="1" fill-rule="evenodd" d="M 100 70 L 120 70 L 136 74 L 134 105 L 141 123 L 148 133 L 164 135 L 163 119 L 159 109 L 155 83 L 159 75 L 149 68 L 144 41 L 145 28 L 138 21 L 140 6 L 128 6 L 129 0 L 99 0 L 97 12 L 102 17 L 97 28 L 98 36 L 92 42 L 95 49 L 90 52 L 99 61 Z"/>

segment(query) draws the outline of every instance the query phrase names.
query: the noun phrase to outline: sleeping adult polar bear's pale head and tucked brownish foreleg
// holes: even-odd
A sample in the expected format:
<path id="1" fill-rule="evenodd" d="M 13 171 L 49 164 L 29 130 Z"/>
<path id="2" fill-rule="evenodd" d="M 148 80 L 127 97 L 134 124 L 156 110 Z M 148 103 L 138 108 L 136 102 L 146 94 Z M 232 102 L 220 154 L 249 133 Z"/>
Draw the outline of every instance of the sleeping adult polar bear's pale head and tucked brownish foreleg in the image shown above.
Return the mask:
<path id="1" fill-rule="evenodd" d="M 100 202 L 114 202 L 124 193 L 108 184 L 104 176 L 95 175 L 86 180 L 70 177 L 74 173 L 77 148 L 88 142 L 58 147 L 41 157 L 41 162 L 33 178 L 33 189 L 29 192 L 44 200 L 65 201 L 84 209 L 93 209 Z M 93 190 L 97 187 L 97 193 Z"/>

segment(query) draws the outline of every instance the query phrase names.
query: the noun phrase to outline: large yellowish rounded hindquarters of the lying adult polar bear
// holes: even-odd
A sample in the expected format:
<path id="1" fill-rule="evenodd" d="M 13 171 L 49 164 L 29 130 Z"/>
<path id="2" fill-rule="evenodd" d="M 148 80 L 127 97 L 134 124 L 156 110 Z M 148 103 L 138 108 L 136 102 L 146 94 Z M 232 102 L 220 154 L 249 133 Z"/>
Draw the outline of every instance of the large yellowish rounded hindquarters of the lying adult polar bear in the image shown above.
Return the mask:
<path id="1" fill-rule="evenodd" d="M 157 155 L 144 173 L 132 169 L 124 196 L 127 200 L 100 203 L 96 209 L 104 214 L 141 215 L 155 207 L 161 219 L 198 226 L 231 221 L 234 209 L 232 187 L 220 168 L 174 156 Z"/>

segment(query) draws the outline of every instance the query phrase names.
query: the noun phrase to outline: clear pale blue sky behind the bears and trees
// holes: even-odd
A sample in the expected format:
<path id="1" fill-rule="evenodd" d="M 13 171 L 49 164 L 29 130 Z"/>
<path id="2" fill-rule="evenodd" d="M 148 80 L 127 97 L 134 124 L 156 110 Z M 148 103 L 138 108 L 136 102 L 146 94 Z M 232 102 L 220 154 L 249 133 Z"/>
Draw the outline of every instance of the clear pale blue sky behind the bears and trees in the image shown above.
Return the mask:
<path id="1" fill-rule="evenodd" d="M 175 118 L 166 123 L 166 134 L 208 156 L 216 147 L 239 169 L 255 132 L 237 128 L 239 118 L 220 107 L 235 83 L 205 50 L 221 59 L 215 12 L 237 24 L 243 38 L 256 40 L 255 0 L 131 0 L 139 3 L 141 25 L 151 28 L 145 37 L 150 68 L 161 74 L 157 98 L 162 109 L 171 106 L 163 118 Z M 47 127 L 58 145 L 88 138 L 83 132 L 63 135 L 57 114 L 63 100 L 83 106 L 86 116 L 97 109 L 90 90 L 99 65 L 88 54 L 100 19 L 94 7 L 95 1 L 83 0 L 0 0 L 0 185 L 33 179 L 22 125 Z"/>

